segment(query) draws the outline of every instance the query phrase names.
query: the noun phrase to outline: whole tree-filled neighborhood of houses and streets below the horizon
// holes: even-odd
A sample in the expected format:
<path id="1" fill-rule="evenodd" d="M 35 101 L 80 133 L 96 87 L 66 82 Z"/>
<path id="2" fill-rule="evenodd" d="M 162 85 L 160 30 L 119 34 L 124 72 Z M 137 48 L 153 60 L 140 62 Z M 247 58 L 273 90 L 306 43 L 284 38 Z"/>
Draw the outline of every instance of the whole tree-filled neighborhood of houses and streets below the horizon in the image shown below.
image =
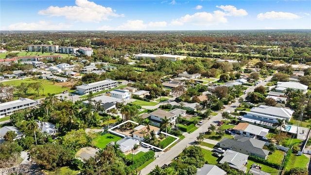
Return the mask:
<path id="1" fill-rule="evenodd" d="M 0 172 L 307 175 L 311 35 L 254 33 L 1 31 Z"/>

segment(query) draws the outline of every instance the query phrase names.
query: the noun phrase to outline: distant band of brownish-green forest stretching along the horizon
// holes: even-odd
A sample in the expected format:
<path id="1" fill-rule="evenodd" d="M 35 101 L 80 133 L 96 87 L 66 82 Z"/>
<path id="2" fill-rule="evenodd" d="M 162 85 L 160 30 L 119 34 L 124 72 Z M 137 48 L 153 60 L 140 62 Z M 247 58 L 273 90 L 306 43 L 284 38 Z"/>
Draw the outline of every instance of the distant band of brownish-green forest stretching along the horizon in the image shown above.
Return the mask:
<path id="1" fill-rule="evenodd" d="M 259 58 L 311 62 L 311 30 L 244 31 L 1 31 L 7 51 L 29 44 L 91 47 L 94 57 L 133 53 L 180 54 L 195 57 Z"/>

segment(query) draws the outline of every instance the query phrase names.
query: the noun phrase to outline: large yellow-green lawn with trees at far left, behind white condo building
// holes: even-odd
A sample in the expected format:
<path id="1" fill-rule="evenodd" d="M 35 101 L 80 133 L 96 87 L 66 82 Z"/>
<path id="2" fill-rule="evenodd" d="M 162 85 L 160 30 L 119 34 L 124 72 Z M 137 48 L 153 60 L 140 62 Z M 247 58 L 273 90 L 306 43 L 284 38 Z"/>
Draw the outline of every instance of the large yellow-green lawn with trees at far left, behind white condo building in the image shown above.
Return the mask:
<path id="1" fill-rule="evenodd" d="M 40 92 L 40 97 L 35 97 L 38 92 L 36 90 L 34 90 L 33 88 L 29 88 L 29 90 L 27 91 L 27 96 L 28 98 L 32 98 L 32 99 L 38 99 L 38 98 L 43 98 L 43 97 L 47 97 L 47 94 L 60 94 L 62 93 L 64 90 L 70 90 L 70 88 L 63 88 L 62 83 L 57 83 L 57 82 L 52 82 L 49 80 L 42 80 L 42 79 L 37 79 L 37 80 L 33 80 L 32 78 L 27 78 L 27 79 L 23 79 L 23 80 L 12 80 L 12 81 L 7 81 L 7 82 L 2 82 L 3 85 L 11 85 L 11 86 L 20 86 L 21 83 L 36 83 L 36 82 L 40 82 L 42 83 L 43 88 L 41 88 L 39 90 Z M 43 95 L 44 93 L 44 95 Z M 14 96 L 19 96 L 19 93 L 17 91 L 14 92 Z"/>

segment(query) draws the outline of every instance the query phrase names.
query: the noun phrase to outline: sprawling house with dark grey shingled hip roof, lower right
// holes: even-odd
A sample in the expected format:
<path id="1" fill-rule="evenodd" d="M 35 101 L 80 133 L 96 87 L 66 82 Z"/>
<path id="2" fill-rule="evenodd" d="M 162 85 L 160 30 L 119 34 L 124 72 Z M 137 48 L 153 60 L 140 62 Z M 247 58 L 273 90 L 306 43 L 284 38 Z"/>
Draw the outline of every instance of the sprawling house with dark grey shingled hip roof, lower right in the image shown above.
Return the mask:
<path id="1" fill-rule="evenodd" d="M 265 141 L 258 139 L 236 135 L 234 139 L 223 138 L 216 145 L 227 150 L 266 159 L 269 151 L 263 149 L 265 143 Z"/>

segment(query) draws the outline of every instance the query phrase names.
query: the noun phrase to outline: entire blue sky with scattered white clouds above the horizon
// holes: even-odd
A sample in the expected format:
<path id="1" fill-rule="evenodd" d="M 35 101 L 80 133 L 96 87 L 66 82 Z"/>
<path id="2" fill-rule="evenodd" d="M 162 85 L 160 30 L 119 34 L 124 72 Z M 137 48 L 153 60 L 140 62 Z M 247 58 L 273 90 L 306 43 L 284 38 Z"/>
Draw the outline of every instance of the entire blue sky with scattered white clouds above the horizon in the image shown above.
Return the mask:
<path id="1" fill-rule="evenodd" d="M 0 30 L 311 29 L 311 0 L 0 0 Z"/>

